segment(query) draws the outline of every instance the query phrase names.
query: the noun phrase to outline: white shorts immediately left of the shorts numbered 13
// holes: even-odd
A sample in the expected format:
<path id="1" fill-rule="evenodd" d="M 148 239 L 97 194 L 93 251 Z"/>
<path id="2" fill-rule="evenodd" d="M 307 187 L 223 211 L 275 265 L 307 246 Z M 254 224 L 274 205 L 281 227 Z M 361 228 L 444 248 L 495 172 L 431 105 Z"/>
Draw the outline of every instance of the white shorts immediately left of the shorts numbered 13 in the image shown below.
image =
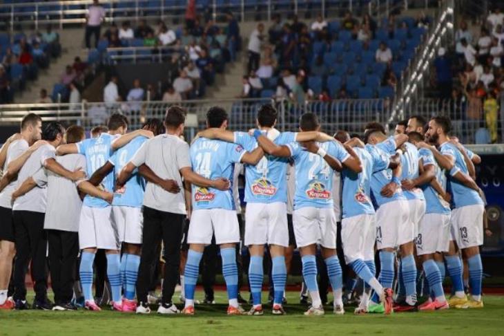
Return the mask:
<path id="1" fill-rule="evenodd" d="M 448 252 L 450 241 L 449 214 L 425 214 L 418 225 L 416 254 Z"/>

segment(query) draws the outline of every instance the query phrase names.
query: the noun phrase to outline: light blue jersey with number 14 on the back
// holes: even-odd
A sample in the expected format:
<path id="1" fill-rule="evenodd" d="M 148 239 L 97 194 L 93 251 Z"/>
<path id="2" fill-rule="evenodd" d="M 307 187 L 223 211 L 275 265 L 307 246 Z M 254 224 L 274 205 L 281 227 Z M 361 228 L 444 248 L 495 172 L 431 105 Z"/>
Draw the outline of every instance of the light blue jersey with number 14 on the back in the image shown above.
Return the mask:
<path id="1" fill-rule="evenodd" d="M 197 174 L 210 180 L 227 178 L 232 181 L 234 164 L 242 160 L 246 151 L 238 144 L 198 138 L 191 145 L 189 153 L 191 154 L 191 165 Z M 234 210 L 232 189 L 233 187 L 222 192 L 214 188 L 193 185 L 193 209 Z"/>

